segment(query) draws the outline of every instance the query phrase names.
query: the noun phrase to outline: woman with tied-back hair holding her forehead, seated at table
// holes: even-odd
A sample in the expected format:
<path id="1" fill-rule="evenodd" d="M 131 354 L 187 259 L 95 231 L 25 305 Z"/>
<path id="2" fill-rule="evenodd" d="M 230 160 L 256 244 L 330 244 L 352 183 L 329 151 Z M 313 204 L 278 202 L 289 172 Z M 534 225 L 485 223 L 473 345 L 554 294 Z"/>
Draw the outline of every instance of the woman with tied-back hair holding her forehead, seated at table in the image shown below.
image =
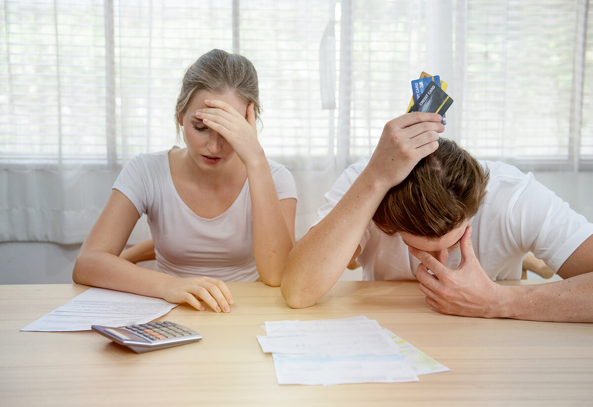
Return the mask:
<path id="1" fill-rule="evenodd" d="M 249 60 L 222 50 L 196 60 L 175 114 L 186 148 L 141 154 L 122 169 L 74 281 L 216 312 L 233 303 L 224 281 L 278 286 L 294 245 L 297 194 L 290 172 L 257 140 L 259 111 Z M 160 271 L 118 257 L 142 213 Z"/>

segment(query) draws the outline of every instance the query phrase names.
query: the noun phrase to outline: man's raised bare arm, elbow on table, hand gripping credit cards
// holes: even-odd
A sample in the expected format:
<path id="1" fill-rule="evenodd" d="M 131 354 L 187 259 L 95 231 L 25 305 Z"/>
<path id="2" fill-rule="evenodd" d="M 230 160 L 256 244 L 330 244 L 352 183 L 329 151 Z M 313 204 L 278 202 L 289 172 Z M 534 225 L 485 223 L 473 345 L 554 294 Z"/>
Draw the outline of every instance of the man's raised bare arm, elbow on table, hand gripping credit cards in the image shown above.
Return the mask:
<path id="1" fill-rule="evenodd" d="M 385 125 L 364 171 L 289 254 L 281 284 L 289 306 L 314 305 L 336 283 L 358 256 L 362 235 L 387 191 L 438 148 L 440 121 L 439 114 L 414 112 Z"/>

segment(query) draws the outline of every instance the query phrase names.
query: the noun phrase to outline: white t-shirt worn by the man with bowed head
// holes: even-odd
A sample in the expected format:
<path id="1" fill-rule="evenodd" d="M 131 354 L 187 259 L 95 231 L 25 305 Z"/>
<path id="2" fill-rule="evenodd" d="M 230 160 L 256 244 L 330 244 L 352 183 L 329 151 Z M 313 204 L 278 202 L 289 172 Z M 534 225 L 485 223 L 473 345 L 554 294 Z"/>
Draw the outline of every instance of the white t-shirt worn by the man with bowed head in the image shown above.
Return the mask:
<path id="1" fill-rule="evenodd" d="M 326 194 L 318 210 L 320 222 L 366 167 L 371 156 L 350 165 Z M 527 252 L 543 259 L 557 273 L 568 257 L 593 235 L 593 224 L 570 209 L 533 174 L 512 165 L 483 161 L 490 181 L 484 203 L 471 221 L 471 242 L 480 264 L 492 280 L 518 280 Z M 360 242 L 358 262 L 364 280 L 415 280 L 419 260 L 399 235 L 387 236 L 371 221 Z M 449 253 L 447 267 L 455 269 L 461 250 Z"/>

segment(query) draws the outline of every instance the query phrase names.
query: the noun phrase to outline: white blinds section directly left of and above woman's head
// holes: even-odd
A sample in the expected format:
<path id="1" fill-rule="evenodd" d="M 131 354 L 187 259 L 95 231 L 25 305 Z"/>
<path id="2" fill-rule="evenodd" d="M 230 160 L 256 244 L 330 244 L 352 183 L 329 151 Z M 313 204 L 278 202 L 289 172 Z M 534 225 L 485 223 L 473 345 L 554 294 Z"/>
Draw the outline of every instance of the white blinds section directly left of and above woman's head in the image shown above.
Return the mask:
<path id="1" fill-rule="evenodd" d="M 187 67 L 232 50 L 232 2 L 115 0 L 118 128 L 123 161 L 171 148 Z"/>

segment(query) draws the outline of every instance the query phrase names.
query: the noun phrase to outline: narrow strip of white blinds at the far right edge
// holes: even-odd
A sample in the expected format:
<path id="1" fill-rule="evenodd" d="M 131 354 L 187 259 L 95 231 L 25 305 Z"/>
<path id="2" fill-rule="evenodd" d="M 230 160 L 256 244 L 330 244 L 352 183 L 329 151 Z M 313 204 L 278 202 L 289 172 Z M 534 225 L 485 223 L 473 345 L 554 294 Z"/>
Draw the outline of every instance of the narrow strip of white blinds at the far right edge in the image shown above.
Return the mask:
<path id="1" fill-rule="evenodd" d="M 581 109 L 581 169 L 593 169 L 593 7 L 589 5 L 586 21 L 586 50 L 583 101 Z"/>

